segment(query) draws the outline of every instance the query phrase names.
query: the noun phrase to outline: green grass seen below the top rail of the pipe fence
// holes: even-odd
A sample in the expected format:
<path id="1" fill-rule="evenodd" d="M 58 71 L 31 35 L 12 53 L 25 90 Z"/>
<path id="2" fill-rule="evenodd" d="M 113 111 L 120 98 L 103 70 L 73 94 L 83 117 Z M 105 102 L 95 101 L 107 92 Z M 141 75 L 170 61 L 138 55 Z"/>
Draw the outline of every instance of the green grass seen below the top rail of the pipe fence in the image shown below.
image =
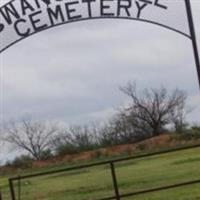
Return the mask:
<path id="1" fill-rule="evenodd" d="M 44 170 L 44 169 L 43 169 Z M 200 179 L 200 148 L 116 164 L 120 194 Z M 3 200 L 8 177 L 0 177 Z M 17 183 L 15 192 L 18 193 Z M 113 196 L 109 166 L 92 167 L 21 182 L 21 200 L 93 200 Z M 200 200 L 200 184 L 123 200 Z"/>

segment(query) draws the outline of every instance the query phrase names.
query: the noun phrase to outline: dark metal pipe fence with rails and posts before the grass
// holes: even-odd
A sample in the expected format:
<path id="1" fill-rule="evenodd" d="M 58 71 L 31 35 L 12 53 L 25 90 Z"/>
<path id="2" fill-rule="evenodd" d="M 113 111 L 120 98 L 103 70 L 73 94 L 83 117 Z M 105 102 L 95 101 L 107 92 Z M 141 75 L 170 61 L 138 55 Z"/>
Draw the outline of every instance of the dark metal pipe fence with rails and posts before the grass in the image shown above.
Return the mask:
<path id="1" fill-rule="evenodd" d="M 141 154 L 141 155 L 129 156 L 129 157 L 118 158 L 118 159 L 112 159 L 112 160 L 96 162 L 96 163 L 92 163 L 92 164 L 78 165 L 75 167 L 69 167 L 69 168 L 64 168 L 64 169 L 60 169 L 60 170 L 52 170 L 52 171 L 46 171 L 46 172 L 35 173 L 35 174 L 30 174 L 30 175 L 12 177 L 12 178 L 9 178 L 11 199 L 12 200 L 21 200 L 21 180 L 30 179 L 30 178 L 34 178 L 34 177 L 41 177 L 41 176 L 46 176 L 46 175 L 52 175 L 52 174 L 57 174 L 57 173 L 62 173 L 62 172 L 87 169 L 87 168 L 101 166 L 101 165 L 109 165 L 109 167 L 110 167 L 114 196 L 109 196 L 109 197 L 101 198 L 101 199 L 96 198 L 94 200 L 121 200 L 122 198 L 125 198 L 125 197 L 143 195 L 143 194 L 158 192 L 158 191 L 162 191 L 162 190 L 168 190 L 168 189 L 179 188 L 179 187 L 184 187 L 184 186 L 189 186 L 189 185 L 194 185 L 194 184 L 200 184 L 200 176 L 199 176 L 199 178 L 197 178 L 196 180 L 189 180 L 186 182 L 165 185 L 162 187 L 156 187 L 156 188 L 145 189 L 145 190 L 132 192 L 132 193 L 120 194 L 118 179 L 117 179 L 117 175 L 116 175 L 116 171 L 115 171 L 116 163 L 120 163 L 123 161 L 129 161 L 129 160 L 136 160 L 136 159 L 140 159 L 140 158 L 148 158 L 151 156 L 163 155 L 163 154 L 184 151 L 184 150 L 190 150 L 190 149 L 195 149 L 195 148 L 200 148 L 200 144 L 192 145 L 192 146 L 185 146 L 185 147 L 178 147 L 178 148 L 171 148 L 168 150 L 156 151 L 156 152 L 152 152 L 152 153 L 148 153 L 148 154 Z M 15 193 L 14 183 L 17 184 L 17 188 L 18 188 L 17 194 L 18 195 L 16 195 L 16 193 Z M 0 193 L 0 200 L 2 200 L 1 193 Z"/>

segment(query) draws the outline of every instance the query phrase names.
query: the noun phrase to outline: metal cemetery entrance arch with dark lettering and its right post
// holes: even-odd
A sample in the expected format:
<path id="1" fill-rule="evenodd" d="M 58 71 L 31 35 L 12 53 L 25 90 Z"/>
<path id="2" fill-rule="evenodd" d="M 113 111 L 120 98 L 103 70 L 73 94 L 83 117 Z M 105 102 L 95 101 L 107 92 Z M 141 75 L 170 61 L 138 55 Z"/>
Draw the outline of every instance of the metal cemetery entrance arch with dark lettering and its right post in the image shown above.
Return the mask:
<path id="1" fill-rule="evenodd" d="M 92 4 L 96 1 L 99 1 L 101 5 L 101 15 L 100 16 L 92 16 Z M 106 2 L 107 1 L 107 2 Z M 14 44 L 20 42 L 21 40 L 30 37 L 38 32 L 50 29 L 52 27 L 60 26 L 62 24 L 68 24 L 68 23 L 74 23 L 74 22 L 80 22 L 80 21 L 86 21 L 86 20 L 93 20 L 93 19 L 126 19 L 126 20 L 136 20 L 146 23 L 151 23 L 154 25 L 158 25 L 160 27 L 169 29 L 171 31 L 174 31 L 176 33 L 179 33 L 188 39 L 192 41 L 193 46 L 193 53 L 194 53 L 194 59 L 197 69 L 197 76 L 199 80 L 199 86 L 200 86 L 200 59 L 199 59 L 199 53 L 198 53 L 198 46 L 197 46 L 197 40 L 196 40 L 196 34 L 195 34 L 195 28 L 193 23 L 193 16 L 192 16 L 192 9 L 191 9 L 191 0 L 182 0 L 182 2 L 185 4 L 186 8 L 186 15 L 187 15 L 187 23 L 189 26 L 189 33 L 185 33 L 179 29 L 173 28 L 171 26 L 165 25 L 164 23 L 156 22 L 155 20 L 149 20 L 140 18 L 141 11 L 149 5 L 157 6 L 161 9 L 167 10 L 167 6 L 163 4 L 163 1 L 172 1 L 172 0 L 68 0 L 67 3 L 65 3 L 65 8 L 68 11 L 68 20 L 64 20 L 63 13 L 61 12 L 61 7 L 59 5 L 55 6 L 55 10 L 52 10 L 50 7 L 52 4 L 59 4 L 62 2 L 62 0 L 11 0 L 7 4 L 0 7 L 0 53 L 4 52 L 9 47 L 13 46 Z M 173 0 L 174 1 L 174 0 Z M 181 0 L 180 0 L 181 1 Z M 37 9 L 36 10 L 30 2 L 35 2 Z M 49 21 L 51 22 L 50 25 L 41 25 L 37 27 L 37 23 L 40 22 L 40 19 L 34 19 L 36 15 L 39 15 L 42 13 L 41 9 L 42 6 L 39 4 L 39 2 L 42 2 L 42 6 L 45 6 L 46 12 L 49 16 Z M 108 2 L 114 2 L 117 4 L 117 15 L 114 16 L 112 13 L 103 13 L 102 14 L 102 8 L 108 9 L 109 6 L 103 3 Z M 16 6 L 15 5 L 18 6 Z M 69 6 L 74 6 L 75 4 L 81 4 L 84 3 L 87 5 L 88 13 L 87 17 L 82 17 L 81 15 L 76 15 L 74 17 L 70 18 L 70 14 L 75 11 L 75 8 L 69 8 Z M 200 2 L 199 2 L 200 3 Z M 137 7 L 137 15 L 131 16 L 130 11 L 128 10 L 132 4 Z M 16 6 L 16 7 L 15 7 Z M 21 15 L 18 13 L 18 8 L 21 6 Z M 120 15 L 121 10 L 126 13 L 127 16 Z M 29 20 L 31 25 L 34 27 L 34 31 L 31 31 L 30 28 L 26 27 L 26 19 L 24 18 L 26 15 L 27 10 L 31 11 L 31 14 L 29 12 Z M 35 11 L 36 10 L 36 11 Z M 26 16 L 26 17 L 27 17 Z M 15 18 L 15 20 L 13 19 Z M 59 23 L 54 23 L 54 20 L 59 20 Z M 25 28 L 24 28 L 25 26 Z M 25 31 L 21 29 L 25 29 Z M 7 42 L 4 42 L 7 40 Z"/>

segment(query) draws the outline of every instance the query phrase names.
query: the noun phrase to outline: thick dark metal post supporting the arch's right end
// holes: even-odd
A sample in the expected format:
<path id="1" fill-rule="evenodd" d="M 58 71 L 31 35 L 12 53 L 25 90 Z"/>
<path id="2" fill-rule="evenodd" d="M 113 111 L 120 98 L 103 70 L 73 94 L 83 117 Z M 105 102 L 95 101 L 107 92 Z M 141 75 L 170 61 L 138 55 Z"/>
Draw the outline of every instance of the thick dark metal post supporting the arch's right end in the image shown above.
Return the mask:
<path id="1" fill-rule="evenodd" d="M 197 75 L 198 75 L 198 80 L 199 80 L 199 87 L 200 87 L 200 59 L 199 59 L 199 52 L 198 52 L 198 46 L 197 46 L 196 33 L 195 33 L 195 28 L 194 28 L 194 21 L 193 21 L 190 0 L 185 0 L 185 5 L 186 5 L 186 10 L 187 10 L 188 23 L 189 23 L 189 28 L 190 28 L 194 58 L 195 58 Z"/>

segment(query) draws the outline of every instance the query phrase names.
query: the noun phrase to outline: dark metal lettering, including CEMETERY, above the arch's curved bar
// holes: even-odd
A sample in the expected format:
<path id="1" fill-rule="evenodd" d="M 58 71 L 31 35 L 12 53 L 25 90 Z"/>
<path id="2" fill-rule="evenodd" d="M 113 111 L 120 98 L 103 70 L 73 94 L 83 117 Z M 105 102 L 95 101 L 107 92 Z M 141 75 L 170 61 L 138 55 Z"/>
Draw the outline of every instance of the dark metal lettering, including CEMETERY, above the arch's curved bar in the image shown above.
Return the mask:
<path id="1" fill-rule="evenodd" d="M 11 25 L 18 36 L 27 37 L 71 20 L 99 16 L 140 18 L 148 6 L 167 9 L 161 0 L 15 0 L 0 9 L 0 30 Z"/>

